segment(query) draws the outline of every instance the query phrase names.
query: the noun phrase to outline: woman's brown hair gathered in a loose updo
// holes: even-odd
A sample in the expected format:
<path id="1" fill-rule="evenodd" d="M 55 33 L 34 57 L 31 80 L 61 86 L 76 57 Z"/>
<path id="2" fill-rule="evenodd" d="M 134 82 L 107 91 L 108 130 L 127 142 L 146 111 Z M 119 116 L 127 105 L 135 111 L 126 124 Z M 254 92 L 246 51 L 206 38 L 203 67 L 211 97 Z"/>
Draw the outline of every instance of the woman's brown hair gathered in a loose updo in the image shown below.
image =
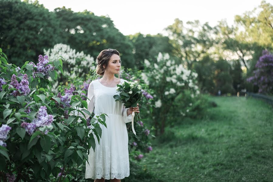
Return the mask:
<path id="1" fill-rule="evenodd" d="M 108 61 L 110 60 L 113 54 L 120 56 L 119 52 L 116 49 L 104 49 L 97 56 L 97 68 L 96 73 L 100 76 L 103 76 L 105 69 L 108 66 Z M 103 67 L 105 66 L 105 68 Z"/>

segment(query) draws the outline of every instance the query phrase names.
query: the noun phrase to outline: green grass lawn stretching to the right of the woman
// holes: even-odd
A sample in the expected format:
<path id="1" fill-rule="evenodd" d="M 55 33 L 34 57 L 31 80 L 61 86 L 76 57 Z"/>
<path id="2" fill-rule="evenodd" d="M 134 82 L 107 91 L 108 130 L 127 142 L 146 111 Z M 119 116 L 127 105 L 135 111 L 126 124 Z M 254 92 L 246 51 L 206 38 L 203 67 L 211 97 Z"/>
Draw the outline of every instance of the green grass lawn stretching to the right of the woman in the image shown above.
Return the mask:
<path id="1" fill-rule="evenodd" d="M 162 181 L 273 181 L 273 109 L 245 97 L 210 97 L 202 120 L 183 119 L 140 164 Z"/>

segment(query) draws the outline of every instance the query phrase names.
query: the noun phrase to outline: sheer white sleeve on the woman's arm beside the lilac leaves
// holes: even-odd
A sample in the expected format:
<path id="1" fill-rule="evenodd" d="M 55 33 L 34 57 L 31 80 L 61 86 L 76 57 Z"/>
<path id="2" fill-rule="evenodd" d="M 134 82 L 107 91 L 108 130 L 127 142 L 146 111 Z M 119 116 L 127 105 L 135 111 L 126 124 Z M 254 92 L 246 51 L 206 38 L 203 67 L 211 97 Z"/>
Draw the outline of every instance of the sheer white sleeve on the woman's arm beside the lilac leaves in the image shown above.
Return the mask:
<path id="1" fill-rule="evenodd" d="M 95 96 L 94 96 L 94 83 L 93 83 L 93 82 L 91 82 L 91 83 L 89 84 L 88 91 L 87 91 L 87 98 L 88 98 L 88 99 L 87 99 L 87 110 L 88 110 L 90 113 L 92 113 L 93 110 L 94 110 L 94 98 L 95 98 Z M 90 100 L 89 100 L 89 99 L 90 99 Z M 84 109 L 86 109 L 86 108 L 84 108 Z M 80 108 L 80 110 L 82 110 L 82 109 Z M 84 111 L 83 111 L 84 116 L 83 116 L 83 114 L 82 114 L 81 112 L 78 112 L 78 111 L 72 111 L 72 112 L 70 112 L 70 116 L 71 116 L 71 115 L 77 116 L 78 113 L 79 113 L 79 116 L 84 117 L 86 120 L 90 117 L 90 116 L 89 116 L 87 113 L 85 113 Z M 81 120 L 78 119 L 78 122 L 81 122 Z"/>

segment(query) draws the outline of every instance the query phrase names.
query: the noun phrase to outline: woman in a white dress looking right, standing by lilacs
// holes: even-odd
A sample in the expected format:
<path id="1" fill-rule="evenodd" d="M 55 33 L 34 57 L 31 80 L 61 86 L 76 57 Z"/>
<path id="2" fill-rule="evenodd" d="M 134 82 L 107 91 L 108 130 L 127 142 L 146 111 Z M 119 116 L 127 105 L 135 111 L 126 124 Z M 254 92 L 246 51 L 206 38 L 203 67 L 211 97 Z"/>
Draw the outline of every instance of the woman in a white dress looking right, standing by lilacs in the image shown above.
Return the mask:
<path id="1" fill-rule="evenodd" d="M 92 178 L 94 182 L 105 179 L 121 181 L 130 175 L 128 133 L 125 123 L 131 121 L 133 111 L 138 112 L 137 107 L 126 108 L 122 102 L 116 102 L 113 98 L 117 95 L 117 84 L 122 84 L 124 79 L 118 79 L 114 75 L 121 69 L 120 54 L 115 49 L 105 49 L 97 56 L 96 72 L 102 76 L 94 80 L 88 88 L 88 110 L 94 109 L 94 114 L 105 113 L 107 128 L 100 124 L 102 129 L 100 143 L 94 135 L 96 148 L 90 150 L 88 162 L 86 162 L 85 178 Z M 89 115 L 85 114 L 87 119 Z"/>

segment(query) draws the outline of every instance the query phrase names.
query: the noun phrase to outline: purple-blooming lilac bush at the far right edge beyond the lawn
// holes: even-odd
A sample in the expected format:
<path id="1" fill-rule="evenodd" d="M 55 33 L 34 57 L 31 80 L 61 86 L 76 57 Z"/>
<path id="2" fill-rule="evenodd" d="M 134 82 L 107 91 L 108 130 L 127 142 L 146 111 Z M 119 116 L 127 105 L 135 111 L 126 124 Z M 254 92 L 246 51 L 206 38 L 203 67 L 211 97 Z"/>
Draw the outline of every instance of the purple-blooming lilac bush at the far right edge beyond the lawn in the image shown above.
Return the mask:
<path id="1" fill-rule="evenodd" d="M 264 50 L 247 82 L 259 86 L 259 93 L 273 93 L 273 54 Z"/>

